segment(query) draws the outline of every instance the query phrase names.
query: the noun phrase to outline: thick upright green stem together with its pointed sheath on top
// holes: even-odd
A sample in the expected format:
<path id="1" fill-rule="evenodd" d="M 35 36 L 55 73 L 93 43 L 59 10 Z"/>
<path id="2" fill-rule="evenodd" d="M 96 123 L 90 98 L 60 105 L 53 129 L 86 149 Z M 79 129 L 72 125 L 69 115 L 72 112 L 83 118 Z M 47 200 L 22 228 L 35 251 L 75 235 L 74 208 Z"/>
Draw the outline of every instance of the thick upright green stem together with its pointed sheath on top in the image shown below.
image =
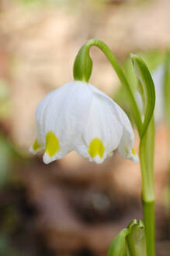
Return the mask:
<path id="1" fill-rule="evenodd" d="M 154 82 L 144 61 L 137 55 L 131 55 L 131 59 L 143 105 L 143 112 L 141 112 L 143 122 L 139 134 L 147 256 L 154 256 Z"/>

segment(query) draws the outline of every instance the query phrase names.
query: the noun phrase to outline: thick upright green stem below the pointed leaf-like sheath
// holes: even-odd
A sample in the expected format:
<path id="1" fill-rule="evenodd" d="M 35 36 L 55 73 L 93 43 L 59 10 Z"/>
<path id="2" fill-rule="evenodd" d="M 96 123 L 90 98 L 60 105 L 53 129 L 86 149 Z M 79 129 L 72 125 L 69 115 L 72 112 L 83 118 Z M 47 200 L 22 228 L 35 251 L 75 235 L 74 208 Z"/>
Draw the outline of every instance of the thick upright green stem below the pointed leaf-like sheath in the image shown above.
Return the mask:
<path id="1" fill-rule="evenodd" d="M 140 160 L 147 256 L 154 256 L 154 118 L 141 139 Z"/>

